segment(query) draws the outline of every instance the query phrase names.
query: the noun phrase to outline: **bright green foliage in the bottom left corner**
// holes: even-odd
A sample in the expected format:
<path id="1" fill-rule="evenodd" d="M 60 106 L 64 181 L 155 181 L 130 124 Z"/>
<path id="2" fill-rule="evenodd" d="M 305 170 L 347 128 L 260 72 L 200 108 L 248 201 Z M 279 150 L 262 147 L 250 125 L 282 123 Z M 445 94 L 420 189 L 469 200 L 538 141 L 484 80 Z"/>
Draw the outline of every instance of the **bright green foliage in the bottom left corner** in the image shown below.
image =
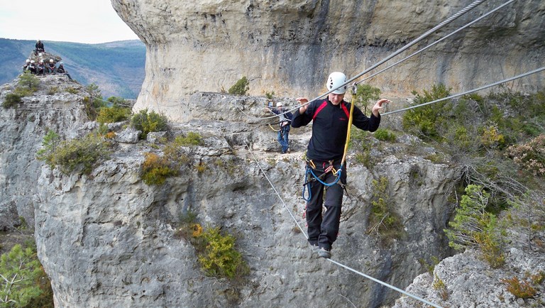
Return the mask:
<path id="1" fill-rule="evenodd" d="M 34 247 L 17 244 L 0 258 L 1 307 L 53 308 L 53 290 Z"/>

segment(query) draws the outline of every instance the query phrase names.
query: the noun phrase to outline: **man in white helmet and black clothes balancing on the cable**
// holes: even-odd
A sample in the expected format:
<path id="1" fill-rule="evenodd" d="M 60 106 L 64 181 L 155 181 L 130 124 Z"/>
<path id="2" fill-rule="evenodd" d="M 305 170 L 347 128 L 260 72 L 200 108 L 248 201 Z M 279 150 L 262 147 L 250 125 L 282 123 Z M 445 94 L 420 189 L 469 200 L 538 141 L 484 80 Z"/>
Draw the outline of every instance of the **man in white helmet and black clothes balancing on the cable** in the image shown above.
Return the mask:
<path id="1" fill-rule="evenodd" d="M 348 117 L 351 104 L 344 101 L 346 75 L 332 72 L 327 78 L 326 88 L 331 93 L 326 99 L 316 99 L 309 104 L 306 97 L 297 101 L 302 106 L 294 112 L 292 127 L 306 126 L 312 121 L 312 137 L 307 146 L 307 167 L 312 168 L 321 182 L 331 184 L 337 175 L 330 170 L 341 169 L 344 144 L 348 133 Z M 365 116 L 354 106 L 352 123 L 363 131 L 376 131 L 380 125 L 382 104 L 390 102 L 379 99 L 372 108 L 370 117 Z M 306 207 L 309 243 L 313 251 L 321 258 L 331 258 L 331 246 L 337 239 L 341 221 L 343 189 L 346 185 L 346 164 L 341 169 L 337 184 L 326 186 L 319 180 L 311 179 L 308 183 L 309 200 Z M 327 190 L 324 199 L 324 190 Z M 322 216 L 322 204 L 326 212 Z"/>

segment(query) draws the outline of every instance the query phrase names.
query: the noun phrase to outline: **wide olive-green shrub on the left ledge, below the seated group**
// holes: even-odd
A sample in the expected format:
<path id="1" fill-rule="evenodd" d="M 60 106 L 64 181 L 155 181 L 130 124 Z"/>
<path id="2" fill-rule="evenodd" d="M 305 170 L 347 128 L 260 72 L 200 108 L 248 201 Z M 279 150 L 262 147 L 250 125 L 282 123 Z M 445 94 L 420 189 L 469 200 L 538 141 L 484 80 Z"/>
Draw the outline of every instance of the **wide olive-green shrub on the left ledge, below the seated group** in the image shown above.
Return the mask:
<path id="1" fill-rule="evenodd" d="M 96 133 L 89 133 L 81 139 L 61 141 L 55 145 L 57 140 L 55 132 L 48 132 L 43 140 L 43 149 L 38 150 L 37 158 L 44 160 L 52 169 L 59 167 L 65 174 L 80 168 L 83 174 L 89 175 L 97 163 L 109 157 L 110 143 Z"/>

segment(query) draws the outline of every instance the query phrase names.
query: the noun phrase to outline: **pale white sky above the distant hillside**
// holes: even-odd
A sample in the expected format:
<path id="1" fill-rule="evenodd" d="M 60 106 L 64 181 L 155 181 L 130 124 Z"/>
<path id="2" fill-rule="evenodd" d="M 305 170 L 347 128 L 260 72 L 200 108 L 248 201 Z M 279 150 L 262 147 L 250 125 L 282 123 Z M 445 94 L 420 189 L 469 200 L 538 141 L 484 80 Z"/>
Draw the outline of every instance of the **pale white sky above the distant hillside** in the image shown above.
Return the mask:
<path id="1" fill-rule="evenodd" d="M 0 38 L 74 43 L 138 40 L 110 0 L 0 0 Z"/>

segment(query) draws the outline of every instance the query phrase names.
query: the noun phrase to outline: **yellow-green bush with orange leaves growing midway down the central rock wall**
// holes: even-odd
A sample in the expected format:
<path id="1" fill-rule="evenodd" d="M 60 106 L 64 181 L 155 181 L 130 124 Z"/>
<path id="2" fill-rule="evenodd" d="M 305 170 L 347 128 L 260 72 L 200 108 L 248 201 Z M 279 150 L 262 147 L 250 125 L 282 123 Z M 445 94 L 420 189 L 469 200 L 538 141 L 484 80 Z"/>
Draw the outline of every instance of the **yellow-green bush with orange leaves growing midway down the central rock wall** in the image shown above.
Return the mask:
<path id="1" fill-rule="evenodd" d="M 199 263 L 213 277 L 236 279 L 247 275 L 250 269 L 235 248 L 235 237 L 222 234 L 219 227 L 208 228 L 199 236 Z"/>

